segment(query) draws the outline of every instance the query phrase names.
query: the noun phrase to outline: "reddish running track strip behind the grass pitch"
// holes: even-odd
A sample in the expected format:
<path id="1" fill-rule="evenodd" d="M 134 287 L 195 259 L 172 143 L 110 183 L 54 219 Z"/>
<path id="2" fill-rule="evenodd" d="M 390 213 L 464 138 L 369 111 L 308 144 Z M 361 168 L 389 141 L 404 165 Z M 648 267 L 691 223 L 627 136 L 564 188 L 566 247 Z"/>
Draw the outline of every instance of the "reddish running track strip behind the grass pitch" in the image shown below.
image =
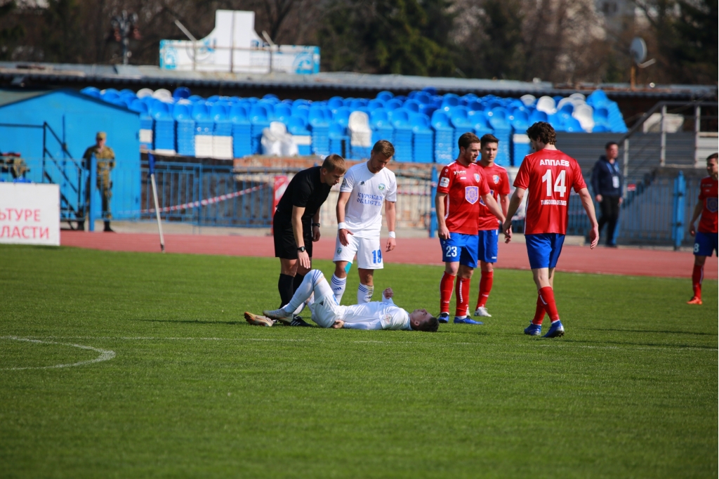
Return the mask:
<path id="1" fill-rule="evenodd" d="M 91 233 L 63 230 L 63 246 L 93 250 L 160 252 L 157 234 Z M 398 238 L 395 251 L 385 253 L 389 263 L 441 265 L 439 240 L 431 238 Z M 272 237 L 214 236 L 199 234 L 167 234 L 165 250 L 169 253 L 232 256 L 275 256 Z M 334 238 L 322 238 L 314 245 L 313 256 L 331 260 Z M 574 273 L 603 273 L 615 275 L 662 276 L 691 278 L 694 257 L 690 252 L 642 250 L 639 248 L 610 249 L 597 247 L 565 246 L 557 270 Z M 500 242 L 498 268 L 529 269 L 525 245 Z M 717 257 L 707 258 L 704 268 L 706 279 L 717 279 Z"/>

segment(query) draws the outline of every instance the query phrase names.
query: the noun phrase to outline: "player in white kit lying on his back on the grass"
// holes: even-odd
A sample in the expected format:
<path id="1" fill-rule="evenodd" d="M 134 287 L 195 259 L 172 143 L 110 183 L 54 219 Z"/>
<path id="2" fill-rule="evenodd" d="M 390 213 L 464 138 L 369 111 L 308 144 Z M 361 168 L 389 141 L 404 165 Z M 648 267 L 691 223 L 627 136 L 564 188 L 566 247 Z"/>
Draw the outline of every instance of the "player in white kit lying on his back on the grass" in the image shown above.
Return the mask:
<path id="1" fill-rule="evenodd" d="M 311 270 L 305 275 L 300 287 L 284 308 L 263 311 L 266 317 L 252 313 L 245 313 L 244 317 L 250 324 L 258 326 L 272 326 L 273 321 L 290 324 L 293 312 L 306 302 L 312 311 L 312 321 L 323 328 L 405 329 L 430 332 L 437 330 L 439 322 L 426 309 L 415 309 L 408 313 L 395 306 L 392 301 L 394 296 L 392 288 L 385 289 L 382 296 L 382 301 L 340 306 L 322 272 Z"/>

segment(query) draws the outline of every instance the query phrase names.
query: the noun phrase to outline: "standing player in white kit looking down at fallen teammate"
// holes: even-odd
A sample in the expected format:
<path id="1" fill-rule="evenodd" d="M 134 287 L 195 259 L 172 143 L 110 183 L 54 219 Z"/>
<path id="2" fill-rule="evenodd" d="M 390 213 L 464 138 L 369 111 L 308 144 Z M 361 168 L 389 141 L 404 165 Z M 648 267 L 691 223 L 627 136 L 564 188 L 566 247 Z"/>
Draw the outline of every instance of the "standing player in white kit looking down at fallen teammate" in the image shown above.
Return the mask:
<path id="1" fill-rule="evenodd" d="M 380 140 L 372 147 L 367 163 L 354 165 L 344 175 L 337 200 L 337 239 L 334 251 L 334 275 L 332 291 L 337 304 L 342 301 L 347 284 L 347 265 L 357 255 L 359 287 L 357 304 L 372 301 L 375 292 L 374 271 L 384 268 L 383 249 L 380 246 L 382 229 L 382 206 L 385 206 L 389 238 L 384 252 L 392 251 L 395 240 L 395 201 L 397 180 L 395 174 L 385 168 L 395 154 L 395 148 L 387 140 Z"/>

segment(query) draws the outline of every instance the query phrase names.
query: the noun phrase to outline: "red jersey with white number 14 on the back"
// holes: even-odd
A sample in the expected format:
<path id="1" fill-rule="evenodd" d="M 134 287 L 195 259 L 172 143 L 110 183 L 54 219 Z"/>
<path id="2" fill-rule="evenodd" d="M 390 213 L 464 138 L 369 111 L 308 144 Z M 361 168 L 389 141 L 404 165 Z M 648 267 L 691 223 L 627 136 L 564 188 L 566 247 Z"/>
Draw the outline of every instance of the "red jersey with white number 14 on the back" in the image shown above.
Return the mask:
<path id="1" fill-rule="evenodd" d="M 524 157 L 515 188 L 528 190 L 524 234 L 567 234 L 569 193 L 587 188 L 577 160 L 559 150 Z"/>

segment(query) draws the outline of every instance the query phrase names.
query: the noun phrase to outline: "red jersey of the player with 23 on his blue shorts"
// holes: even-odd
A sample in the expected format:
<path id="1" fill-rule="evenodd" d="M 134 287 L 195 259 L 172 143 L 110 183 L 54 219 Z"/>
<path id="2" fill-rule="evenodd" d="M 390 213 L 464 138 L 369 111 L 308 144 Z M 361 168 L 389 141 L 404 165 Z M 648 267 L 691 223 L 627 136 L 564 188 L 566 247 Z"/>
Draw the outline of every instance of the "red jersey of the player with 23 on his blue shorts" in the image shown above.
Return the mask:
<path id="1" fill-rule="evenodd" d="M 480 196 L 490 192 L 482 168 L 472 163 L 466 168 L 456 161 L 439 173 L 437 193 L 444 198 L 444 224 L 450 233 L 477 234 Z"/>

